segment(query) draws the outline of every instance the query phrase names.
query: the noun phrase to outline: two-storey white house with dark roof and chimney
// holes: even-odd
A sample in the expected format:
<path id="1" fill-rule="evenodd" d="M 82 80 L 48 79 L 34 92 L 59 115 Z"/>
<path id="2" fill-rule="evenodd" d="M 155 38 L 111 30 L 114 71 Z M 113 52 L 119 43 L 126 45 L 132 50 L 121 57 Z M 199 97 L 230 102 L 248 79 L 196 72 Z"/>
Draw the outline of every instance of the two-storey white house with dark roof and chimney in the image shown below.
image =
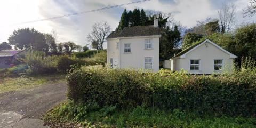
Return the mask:
<path id="1" fill-rule="evenodd" d="M 154 26 L 125 27 L 107 37 L 107 62 L 111 68 L 159 70 L 158 20 Z"/>

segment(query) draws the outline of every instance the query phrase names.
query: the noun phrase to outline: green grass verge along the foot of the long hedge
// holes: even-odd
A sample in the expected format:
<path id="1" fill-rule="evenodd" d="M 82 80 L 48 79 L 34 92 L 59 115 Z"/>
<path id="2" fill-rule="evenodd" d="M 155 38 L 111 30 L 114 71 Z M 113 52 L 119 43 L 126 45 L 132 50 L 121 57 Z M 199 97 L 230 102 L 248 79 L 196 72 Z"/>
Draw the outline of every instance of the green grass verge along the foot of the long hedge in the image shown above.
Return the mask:
<path id="1" fill-rule="evenodd" d="M 81 123 L 95 127 L 256 127 L 255 117 L 212 116 L 179 109 L 134 107 L 119 110 L 115 106 L 77 105 L 68 101 L 48 111 L 47 123 Z"/>

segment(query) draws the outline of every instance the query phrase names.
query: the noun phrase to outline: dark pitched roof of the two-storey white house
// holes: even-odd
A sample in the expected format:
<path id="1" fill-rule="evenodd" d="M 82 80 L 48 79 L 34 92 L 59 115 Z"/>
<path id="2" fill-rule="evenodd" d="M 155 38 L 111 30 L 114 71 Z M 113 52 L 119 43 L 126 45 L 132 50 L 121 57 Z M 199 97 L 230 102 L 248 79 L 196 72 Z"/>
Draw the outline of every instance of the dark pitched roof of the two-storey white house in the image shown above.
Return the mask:
<path id="1" fill-rule="evenodd" d="M 124 27 L 122 31 L 113 31 L 107 38 L 161 35 L 161 29 L 154 26 Z"/>

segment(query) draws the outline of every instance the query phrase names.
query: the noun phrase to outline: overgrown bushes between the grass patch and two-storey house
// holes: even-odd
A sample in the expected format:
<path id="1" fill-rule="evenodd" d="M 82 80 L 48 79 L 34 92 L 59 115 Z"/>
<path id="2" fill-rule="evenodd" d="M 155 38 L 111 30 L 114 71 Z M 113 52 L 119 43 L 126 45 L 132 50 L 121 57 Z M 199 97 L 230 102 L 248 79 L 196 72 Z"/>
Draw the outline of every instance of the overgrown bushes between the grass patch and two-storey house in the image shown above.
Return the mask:
<path id="1" fill-rule="evenodd" d="M 10 68 L 9 72 L 15 73 L 17 71 L 27 73 L 30 75 L 35 74 L 54 74 L 66 73 L 72 65 L 77 66 L 90 66 L 90 65 L 105 65 L 107 62 L 107 53 L 105 50 L 95 51 L 87 58 L 69 57 L 68 55 L 46 55 L 41 51 L 28 52 L 25 55 L 23 62 L 26 65 L 20 65 Z M 24 69 L 24 70 L 23 70 Z"/>

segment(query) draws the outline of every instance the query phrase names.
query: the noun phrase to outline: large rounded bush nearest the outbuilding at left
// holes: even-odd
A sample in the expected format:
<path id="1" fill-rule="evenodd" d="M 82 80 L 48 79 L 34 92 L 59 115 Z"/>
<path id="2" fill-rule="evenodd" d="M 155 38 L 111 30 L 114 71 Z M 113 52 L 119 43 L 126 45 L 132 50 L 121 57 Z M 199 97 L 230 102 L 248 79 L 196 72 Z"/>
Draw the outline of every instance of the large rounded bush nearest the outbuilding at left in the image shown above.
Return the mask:
<path id="1" fill-rule="evenodd" d="M 58 56 L 46 56 L 44 52 L 28 52 L 25 57 L 25 63 L 29 66 L 30 74 L 50 74 L 57 73 Z"/>

